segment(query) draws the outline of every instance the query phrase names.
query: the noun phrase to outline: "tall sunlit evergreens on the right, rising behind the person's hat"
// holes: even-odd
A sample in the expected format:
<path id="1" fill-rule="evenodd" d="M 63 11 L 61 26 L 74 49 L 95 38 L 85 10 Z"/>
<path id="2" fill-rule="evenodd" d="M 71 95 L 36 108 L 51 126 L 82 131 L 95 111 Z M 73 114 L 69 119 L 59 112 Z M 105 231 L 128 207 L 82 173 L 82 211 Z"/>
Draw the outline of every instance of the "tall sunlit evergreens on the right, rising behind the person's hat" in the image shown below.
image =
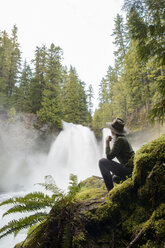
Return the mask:
<path id="1" fill-rule="evenodd" d="M 164 122 L 165 116 L 165 4 L 163 0 L 125 0 L 126 19 L 117 14 L 113 37 L 115 66 L 107 71 L 99 89 L 99 108 L 93 128 L 105 127 L 116 117 L 135 130 L 153 121 Z M 113 73 L 112 73 L 113 72 Z M 110 77 L 109 77 L 110 75 Z M 113 75 L 113 77 L 112 77 Z M 109 104 L 109 109 L 103 107 Z M 97 118 L 96 118 L 97 117 Z"/>

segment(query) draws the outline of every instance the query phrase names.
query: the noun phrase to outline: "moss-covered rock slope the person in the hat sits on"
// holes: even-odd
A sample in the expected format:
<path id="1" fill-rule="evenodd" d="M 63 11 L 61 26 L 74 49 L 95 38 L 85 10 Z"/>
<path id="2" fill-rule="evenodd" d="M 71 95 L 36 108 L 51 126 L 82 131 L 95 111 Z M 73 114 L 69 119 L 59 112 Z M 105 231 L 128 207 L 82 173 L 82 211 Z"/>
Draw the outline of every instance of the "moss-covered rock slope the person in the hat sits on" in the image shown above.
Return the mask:
<path id="1" fill-rule="evenodd" d="M 97 177 L 73 201 L 55 204 L 48 218 L 16 248 L 164 248 L 165 136 L 141 147 L 132 178 L 106 198 Z"/>

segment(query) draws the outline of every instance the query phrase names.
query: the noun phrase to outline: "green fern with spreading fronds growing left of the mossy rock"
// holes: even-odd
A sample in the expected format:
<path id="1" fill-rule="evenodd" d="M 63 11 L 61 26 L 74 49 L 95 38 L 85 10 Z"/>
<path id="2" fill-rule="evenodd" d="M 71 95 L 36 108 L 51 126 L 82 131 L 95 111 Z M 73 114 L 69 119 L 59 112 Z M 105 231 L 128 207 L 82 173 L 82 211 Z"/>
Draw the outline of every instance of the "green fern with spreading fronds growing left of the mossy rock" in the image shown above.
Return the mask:
<path id="1" fill-rule="evenodd" d="M 51 191 L 53 194 L 49 196 L 43 192 L 33 192 L 23 197 L 14 197 L 3 201 L 0 203 L 0 206 L 8 204 L 14 205 L 3 214 L 3 217 L 13 213 L 36 212 L 47 207 L 52 208 L 62 199 L 65 199 L 65 203 L 68 204 L 68 202 L 73 201 L 75 195 L 80 190 L 80 184 L 78 184 L 77 176 L 73 174 L 70 175 L 67 195 L 65 195 L 63 191 L 56 186 L 54 179 L 50 175 L 45 177 L 45 183 L 38 183 L 38 185 L 43 186 L 46 190 Z M 11 233 L 14 233 L 14 236 L 16 236 L 22 229 L 29 228 L 37 223 L 40 223 L 47 217 L 48 213 L 46 212 L 36 212 L 28 217 L 20 218 L 19 220 L 12 220 L 0 229 L 0 239 Z"/>

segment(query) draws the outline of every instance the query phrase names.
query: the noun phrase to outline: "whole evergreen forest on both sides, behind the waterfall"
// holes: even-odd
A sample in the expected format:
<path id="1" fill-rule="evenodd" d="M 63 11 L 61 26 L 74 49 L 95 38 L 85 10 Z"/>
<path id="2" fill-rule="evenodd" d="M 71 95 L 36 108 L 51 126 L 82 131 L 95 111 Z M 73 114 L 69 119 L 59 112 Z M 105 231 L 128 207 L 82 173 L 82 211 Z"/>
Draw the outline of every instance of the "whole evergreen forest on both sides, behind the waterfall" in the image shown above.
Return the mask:
<path id="1" fill-rule="evenodd" d="M 18 28 L 0 31 L 0 114 L 36 114 L 41 123 L 60 130 L 62 120 L 105 127 L 115 117 L 132 129 L 165 113 L 165 2 L 125 0 L 125 18 L 114 20 L 114 67 L 99 85 L 93 113 L 93 88 L 73 66 L 62 64 L 63 50 L 54 43 L 36 47 L 31 63 L 22 61 Z M 90 68 L 89 68 L 90 70 Z M 144 121 L 145 120 L 145 121 Z"/>

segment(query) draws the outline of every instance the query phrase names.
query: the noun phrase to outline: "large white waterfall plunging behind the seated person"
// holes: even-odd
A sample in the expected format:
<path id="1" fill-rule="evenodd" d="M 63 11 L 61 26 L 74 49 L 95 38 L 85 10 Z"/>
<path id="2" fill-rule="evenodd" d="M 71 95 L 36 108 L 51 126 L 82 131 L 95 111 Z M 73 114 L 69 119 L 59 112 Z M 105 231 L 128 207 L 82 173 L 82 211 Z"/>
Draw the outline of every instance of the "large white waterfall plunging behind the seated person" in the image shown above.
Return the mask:
<path id="1" fill-rule="evenodd" d="M 63 131 L 52 144 L 45 168 L 57 185 L 66 188 L 71 173 L 79 180 L 99 175 L 100 157 L 96 138 L 89 128 L 63 122 Z"/>

